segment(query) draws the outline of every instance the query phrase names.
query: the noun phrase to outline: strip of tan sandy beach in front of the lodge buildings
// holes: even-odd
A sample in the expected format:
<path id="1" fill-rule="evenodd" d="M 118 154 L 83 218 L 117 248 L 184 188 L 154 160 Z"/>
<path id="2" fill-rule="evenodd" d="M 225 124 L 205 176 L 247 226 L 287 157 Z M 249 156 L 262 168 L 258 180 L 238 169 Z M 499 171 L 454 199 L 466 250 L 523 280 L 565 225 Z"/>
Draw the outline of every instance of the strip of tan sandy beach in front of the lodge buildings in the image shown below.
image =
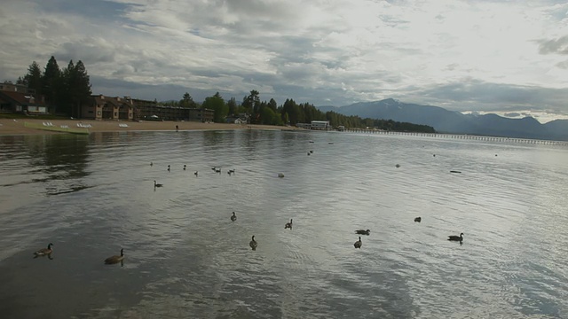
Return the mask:
<path id="1" fill-rule="evenodd" d="M 36 123 L 40 126 L 50 122 L 53 126 L 77 128 L 77 124 L 88 127 L 90 132 L 117 132 L 143 130 L 192 130 L 192 129 L 297 129 L 272 125 L 201 123 L 193 121 L 89 121 L 89 120 L 37 120 L 37 119 L 0 119 L 0 135 L 67 134 L 49 130 L 26 128 L 24 123 Z"/>

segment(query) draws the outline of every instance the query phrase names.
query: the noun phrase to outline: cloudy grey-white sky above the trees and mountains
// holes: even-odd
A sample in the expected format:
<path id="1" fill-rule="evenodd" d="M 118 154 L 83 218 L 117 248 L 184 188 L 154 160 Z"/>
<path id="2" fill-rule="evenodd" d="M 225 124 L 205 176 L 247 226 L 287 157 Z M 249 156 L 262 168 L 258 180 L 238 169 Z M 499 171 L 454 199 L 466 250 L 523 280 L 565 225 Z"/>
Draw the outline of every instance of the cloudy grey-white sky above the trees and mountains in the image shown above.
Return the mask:
<path id="1" fill-rule="evenodd" d="M 106 96 L 568 119 L 565 0 L 3 0 L 0 82 L 51 56 Z"/>

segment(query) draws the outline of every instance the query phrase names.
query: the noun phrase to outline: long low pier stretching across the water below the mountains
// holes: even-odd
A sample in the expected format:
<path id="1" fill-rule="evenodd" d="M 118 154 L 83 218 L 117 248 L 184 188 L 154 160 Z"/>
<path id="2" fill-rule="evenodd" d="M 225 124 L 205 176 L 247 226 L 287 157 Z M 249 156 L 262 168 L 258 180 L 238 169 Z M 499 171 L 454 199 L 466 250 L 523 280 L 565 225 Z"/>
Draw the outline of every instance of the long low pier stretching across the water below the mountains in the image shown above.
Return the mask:
<path id="1" fill-rule="evenodd" d="M 366 128 L 345 128 L 342 131 L 343 132 L 350 132 L 350 133 L 359 133 L 359 134 L 382 134 L 382 135 L 390 135 L 390 136 L 422 136 L 422 137 L 435 137 L 435 138 L 476 140 L 476 141 L 485 141 L 485 142 L 507 142 L 507 143 L 568 146 L 568 141 L 551 141 L 551 140 L 517 138 L 517 137 L 476 136 L 476 135 L 466 135 L 466 134 L 398 132 L 398 131 L 385 131 L 385 130 L 380 130 L 380 129 L 366 129 Z"/>

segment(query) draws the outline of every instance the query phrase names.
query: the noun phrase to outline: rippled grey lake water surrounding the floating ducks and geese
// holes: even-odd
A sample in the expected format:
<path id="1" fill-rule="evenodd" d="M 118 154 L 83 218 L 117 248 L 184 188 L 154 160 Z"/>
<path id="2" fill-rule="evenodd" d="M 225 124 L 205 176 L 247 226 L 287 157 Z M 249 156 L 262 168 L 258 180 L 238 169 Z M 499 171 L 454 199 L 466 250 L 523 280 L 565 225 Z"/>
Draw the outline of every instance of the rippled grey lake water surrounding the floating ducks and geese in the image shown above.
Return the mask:
<path id="1" fill-rule="evenodd" d="M 568 318 L 567 181 L 553 145 L 0 136 L 0 317 Z"/>

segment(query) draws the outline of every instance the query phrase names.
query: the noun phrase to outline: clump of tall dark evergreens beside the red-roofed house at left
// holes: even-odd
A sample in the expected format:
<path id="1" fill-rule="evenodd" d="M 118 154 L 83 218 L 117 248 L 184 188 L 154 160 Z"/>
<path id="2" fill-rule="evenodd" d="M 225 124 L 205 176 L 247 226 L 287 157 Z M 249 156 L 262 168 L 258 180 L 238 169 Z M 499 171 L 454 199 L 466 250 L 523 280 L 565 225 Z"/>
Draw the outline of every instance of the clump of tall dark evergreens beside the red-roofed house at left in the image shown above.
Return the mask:
<path id="1" fill-rule="evenodd" d="M 17 84 L 26 85 L 36 91 L 36 97 L 45 97 L 51 113 L 80 117 L 81 105 L 91 97 L 91 81 L 81 60 L 67 67 L 59 68 L 57 60 L 51 56 L 41 70 L 36 61 L 28 66 L 28 74 L 20 76 Z"/>

